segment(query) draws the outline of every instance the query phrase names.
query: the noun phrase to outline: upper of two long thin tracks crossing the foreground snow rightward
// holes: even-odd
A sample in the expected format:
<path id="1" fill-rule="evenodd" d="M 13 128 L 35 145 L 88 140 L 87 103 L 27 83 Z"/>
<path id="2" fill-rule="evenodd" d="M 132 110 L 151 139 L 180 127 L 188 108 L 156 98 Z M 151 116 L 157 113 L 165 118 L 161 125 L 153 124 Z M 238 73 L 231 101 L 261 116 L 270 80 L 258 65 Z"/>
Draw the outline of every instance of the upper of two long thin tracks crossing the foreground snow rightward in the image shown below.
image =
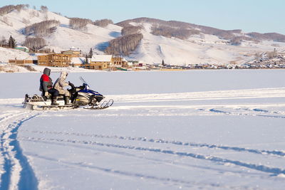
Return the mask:
<path id="1" fill-rule="evenodd" d="M 259 150 L 259 149 L 247 149 L 242 147 L 229 147 L 217 144 L 206 144 L 206 143 L 195 143 L 195 142 L 181 142 L 177 140 L 167 140 L 167 139 L 150 139 L 147 137 L 123 137 L 117 135 L 103 135 L 103 134 L 86 134 L 86 133 L 78 133 L 78 132 L 51 132 L 51 131 L 28 131 L 24 130 L 23 132 L 32 132 L 38 134 L 61 134 L 61 135 L 73 135 L 77 137 L 92 137 L 92 138 L 105 138 L 105 139 L 120 139 L 120 140 L 129 140 L 129 141 L 139 141 L 139 142 L 154 142 L 160 144 L 175 144 L 180 146 L 187 146 L 187 147 L 206 147 L 209 149 L 225 149 L 225 150 L 232 150 L 235 152 L 250 152 L 254 154 L 269 154 L 275 155 L 279 157 L 285 157 L 285 152 L 279 150 Z"/>

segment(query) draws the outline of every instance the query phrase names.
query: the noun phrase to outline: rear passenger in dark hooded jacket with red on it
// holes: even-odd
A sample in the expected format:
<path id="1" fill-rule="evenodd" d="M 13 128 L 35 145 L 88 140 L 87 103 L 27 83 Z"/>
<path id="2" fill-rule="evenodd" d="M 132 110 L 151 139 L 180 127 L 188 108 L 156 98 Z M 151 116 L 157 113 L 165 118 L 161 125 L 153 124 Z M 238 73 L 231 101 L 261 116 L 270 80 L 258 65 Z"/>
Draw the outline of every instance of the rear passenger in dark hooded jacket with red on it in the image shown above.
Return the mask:
<path id="1" fill-rule="evenodd" d="M 51 94 L 51 105 L 58 105 L 56 100 L 58 99 L 58 90 L 53 88 L 53 82 L 49 77 L 51 75 L 51 70 L 49 68 L 44 68 L 43 75 L 41 75 L 40 79 L 40 88 L 39 90 L 42 92 L 41 96 L 47 99 L 48 93 Z"/>

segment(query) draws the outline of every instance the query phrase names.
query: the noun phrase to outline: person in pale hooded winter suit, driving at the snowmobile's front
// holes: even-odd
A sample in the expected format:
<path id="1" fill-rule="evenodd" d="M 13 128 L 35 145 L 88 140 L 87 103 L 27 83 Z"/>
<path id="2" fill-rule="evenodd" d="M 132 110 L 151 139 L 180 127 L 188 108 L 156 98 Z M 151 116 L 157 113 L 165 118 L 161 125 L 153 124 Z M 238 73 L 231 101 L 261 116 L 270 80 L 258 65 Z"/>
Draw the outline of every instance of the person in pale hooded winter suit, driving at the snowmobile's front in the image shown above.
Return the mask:
<path id="1" fill-rule="evenodd" d="M 69 103 L 71 95 L 68 90 L 63 89 L 64 87 L 71 84 L 66 83 L 67 75 L 68 73 L 66 73 L 66 71 L 61 72 L 61 76 L 56 80 L 56 83 L 54 83 L 53 88 L 58 90 L 60 95 L 63 95 L 65 105 L 71 105 L 71 103 Z"/>

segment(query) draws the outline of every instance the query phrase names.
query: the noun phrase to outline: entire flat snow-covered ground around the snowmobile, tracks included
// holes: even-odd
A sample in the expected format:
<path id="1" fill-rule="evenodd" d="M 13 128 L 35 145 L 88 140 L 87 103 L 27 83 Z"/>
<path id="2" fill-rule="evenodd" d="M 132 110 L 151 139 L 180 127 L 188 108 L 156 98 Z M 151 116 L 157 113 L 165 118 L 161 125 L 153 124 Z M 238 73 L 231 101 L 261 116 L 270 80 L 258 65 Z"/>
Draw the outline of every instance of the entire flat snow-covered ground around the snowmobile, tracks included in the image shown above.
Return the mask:
<path id="1" fill-rule="evenodd" d="M 0 189 L 284 189 L 284 72 L 71 73 L 113 107 L 44 112 L 1 73 Z"/>

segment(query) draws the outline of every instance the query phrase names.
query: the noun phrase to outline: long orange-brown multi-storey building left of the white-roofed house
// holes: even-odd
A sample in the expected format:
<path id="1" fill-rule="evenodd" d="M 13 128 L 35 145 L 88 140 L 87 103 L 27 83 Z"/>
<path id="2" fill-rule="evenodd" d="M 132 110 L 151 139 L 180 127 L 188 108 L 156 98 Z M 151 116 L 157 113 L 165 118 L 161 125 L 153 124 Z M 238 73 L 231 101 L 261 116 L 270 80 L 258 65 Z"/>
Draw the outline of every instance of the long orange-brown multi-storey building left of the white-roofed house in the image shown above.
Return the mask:
<path id="1" fill-rule="evenodd" d="M 52 53 L 38 56 L 38 65 L 50 67 L 68 67 L 71 63 L 70 54 Z"/>

